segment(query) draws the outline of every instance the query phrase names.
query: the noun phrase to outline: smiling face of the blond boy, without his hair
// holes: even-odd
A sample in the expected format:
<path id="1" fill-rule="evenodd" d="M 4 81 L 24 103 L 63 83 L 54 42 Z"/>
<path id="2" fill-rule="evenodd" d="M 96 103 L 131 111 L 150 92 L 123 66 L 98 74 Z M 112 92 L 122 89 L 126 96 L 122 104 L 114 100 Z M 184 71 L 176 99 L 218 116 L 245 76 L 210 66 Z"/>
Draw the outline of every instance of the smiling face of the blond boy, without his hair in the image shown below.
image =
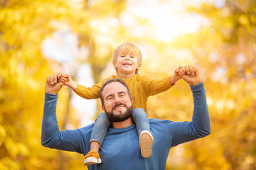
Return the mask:
<path id="1" fill-rule="evenodd" d="M 132 77 L 136 70 L 141 67 L 141 63 L 138 62 L 137 55 L 132 53 L 119 52 L 117 56 L 117 60 L 113 62 L 113 66 L 118 70 L 118 74 L 122 77 L 122 75 L 127 75 Z M 124 78 L 129 78 L 124 77 Z"/>

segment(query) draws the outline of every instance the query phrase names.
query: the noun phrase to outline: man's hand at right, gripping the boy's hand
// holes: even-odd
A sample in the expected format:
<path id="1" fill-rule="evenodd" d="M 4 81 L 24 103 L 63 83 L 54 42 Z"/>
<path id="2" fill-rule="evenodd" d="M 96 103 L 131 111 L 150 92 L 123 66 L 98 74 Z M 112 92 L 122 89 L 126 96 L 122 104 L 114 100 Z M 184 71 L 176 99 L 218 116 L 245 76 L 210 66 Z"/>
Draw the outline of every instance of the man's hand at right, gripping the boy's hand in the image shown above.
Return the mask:
<path id="1" fill-rule="evenodd" d="M 196 67 L 185 66 L 184 70 L 185 74 L 181 76 L 184 81 L 186 81 L 191 86 L 201 84 L 203 80 Z"/>

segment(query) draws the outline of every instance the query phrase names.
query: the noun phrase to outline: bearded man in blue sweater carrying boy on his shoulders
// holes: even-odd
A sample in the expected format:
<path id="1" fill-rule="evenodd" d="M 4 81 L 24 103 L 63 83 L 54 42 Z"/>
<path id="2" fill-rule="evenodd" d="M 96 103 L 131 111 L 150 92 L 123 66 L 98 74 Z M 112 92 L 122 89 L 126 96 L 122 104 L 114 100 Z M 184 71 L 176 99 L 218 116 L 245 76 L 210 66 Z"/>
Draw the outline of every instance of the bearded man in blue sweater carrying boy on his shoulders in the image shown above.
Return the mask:
<path id="1" fill-rule="evenodd" d="M 76 130 L 60 132 L 56 120 L 58 91 L 63 83 L 50 85 L 56 77 L 48 77 L 43 111 L 42 145 L 86 154 L 90 151 L 92 125 Z M 88 166 L 88 169 L 165 169 L 169 149 L 183 142 L 196 140 L 210 134 L 210 118 L 206 103 L 203 81 L 196 67 L 185 67 L 183 80 L 191 85 L 194 110 L 191 122 L 149 119 L 154 137 L 152 155 L 143 158 L 140 154 L 136 126 L 132 122 L 132 98 L 127 85 L 120 79 L 110 79 L 100 91 L 102 109 L 112 120 L 102 146 L 102 164 Z M 50 81 L 49 81 L 50 79 Z"/>

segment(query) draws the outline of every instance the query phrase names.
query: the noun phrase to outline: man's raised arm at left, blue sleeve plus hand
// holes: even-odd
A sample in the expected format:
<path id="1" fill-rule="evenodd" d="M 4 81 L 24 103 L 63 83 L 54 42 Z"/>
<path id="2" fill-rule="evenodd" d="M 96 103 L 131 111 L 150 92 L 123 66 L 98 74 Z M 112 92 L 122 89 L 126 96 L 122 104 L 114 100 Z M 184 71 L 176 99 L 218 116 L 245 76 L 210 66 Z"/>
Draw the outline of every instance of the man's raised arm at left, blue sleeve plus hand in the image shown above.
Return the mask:
<path id="1" fill-rule="evenodd" d="M 78 130 L 65 130 L 60 132 L 56 118 L 56 105 L 58 91 L 63 86 L 63 82 L 51 85 L 52 75 L 46 81 L 45 103 L 43 107 L 43 122 L 41 143 L 45 147 L 68 150 L 81 153 L 78 138 L 81 137 Z"/>

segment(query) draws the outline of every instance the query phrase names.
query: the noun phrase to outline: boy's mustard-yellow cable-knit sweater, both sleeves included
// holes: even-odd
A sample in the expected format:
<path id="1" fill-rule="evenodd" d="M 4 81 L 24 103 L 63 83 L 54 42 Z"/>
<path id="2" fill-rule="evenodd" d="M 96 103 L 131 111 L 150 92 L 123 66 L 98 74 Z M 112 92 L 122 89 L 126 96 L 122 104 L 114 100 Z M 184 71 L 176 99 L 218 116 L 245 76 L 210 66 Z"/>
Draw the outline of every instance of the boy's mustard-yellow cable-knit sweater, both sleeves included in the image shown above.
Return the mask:
<path id="1" fill-rule="evenodd" d="M 108 79 L 122 78 L 119 75 L 113 75 L 107 79 L 103 79 L 91 88 L 78 84 L 78 89 L 75 90 L 75 93 L 85 99 L 100 98 L 100 88 Z M 135 74 L 132 78 L 122 80 L 125 81 L 129 88 L 134 108 L 144 108 L 146 113 L 148 113 L 147 100 L 149 96 L 159 94 L 171 88 L 171 77 L 157 80 Z"/>

